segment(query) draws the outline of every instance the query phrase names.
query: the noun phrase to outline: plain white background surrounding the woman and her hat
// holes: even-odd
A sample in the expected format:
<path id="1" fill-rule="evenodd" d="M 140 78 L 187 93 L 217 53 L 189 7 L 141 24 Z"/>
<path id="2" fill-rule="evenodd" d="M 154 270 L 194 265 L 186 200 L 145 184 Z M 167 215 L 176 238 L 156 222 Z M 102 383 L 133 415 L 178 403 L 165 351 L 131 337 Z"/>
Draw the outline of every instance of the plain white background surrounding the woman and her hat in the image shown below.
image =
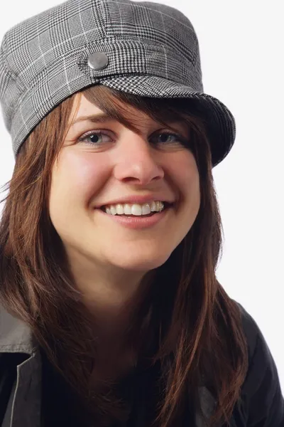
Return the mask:
<path id="1" fill-rule="evenodd" d="M 218 278 L 261 328 L 284 391 L 283 2 L 160 2 L 192 21 L 200 41 L 204 91 L 222 100 L 236 118 L 235 145 L 214 169 L 225 233 Z M 0 40 L 14 24 L 58 3 L 5 2 Z M 10 179 L 13 163 L 0 116 L 0 185 Z"/>

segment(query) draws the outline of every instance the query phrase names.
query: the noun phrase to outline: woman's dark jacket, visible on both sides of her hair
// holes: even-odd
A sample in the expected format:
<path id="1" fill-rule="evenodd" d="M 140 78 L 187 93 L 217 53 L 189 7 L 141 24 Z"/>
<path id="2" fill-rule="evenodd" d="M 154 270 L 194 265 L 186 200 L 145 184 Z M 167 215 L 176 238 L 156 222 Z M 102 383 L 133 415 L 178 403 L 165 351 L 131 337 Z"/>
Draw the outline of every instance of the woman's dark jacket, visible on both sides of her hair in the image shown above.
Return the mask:
<path id="1" fill-rule="evenodd" d="M 284 399 L 275 362 L 251 315 L 238 303 L 249 350 L 249 369 L 230 427 L 284 427 Z M 40 351 L 30 328 L 0 307 L 0 426 L 41 427 Z M 199 387 L 202 411 L 210 416 L 214 398 Z M 62 426 L 63 427 L 63 426 Z M 204 427 L 195 416 L 195 427 Z"/>

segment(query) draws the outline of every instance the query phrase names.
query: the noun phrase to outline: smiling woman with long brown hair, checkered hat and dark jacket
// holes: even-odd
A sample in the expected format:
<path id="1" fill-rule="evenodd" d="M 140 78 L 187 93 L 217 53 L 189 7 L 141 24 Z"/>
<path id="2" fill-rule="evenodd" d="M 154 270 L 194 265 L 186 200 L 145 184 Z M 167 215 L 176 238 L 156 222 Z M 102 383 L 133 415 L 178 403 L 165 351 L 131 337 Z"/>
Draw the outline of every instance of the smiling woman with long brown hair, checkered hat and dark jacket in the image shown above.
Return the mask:
<path id="1" fill-rule="evenodd" d="M 68 0 L 6 33 L 0 99 L 1 426 L 283 426 L 263 335 L 215 274 L 235 127 L 190 21 Z"/>

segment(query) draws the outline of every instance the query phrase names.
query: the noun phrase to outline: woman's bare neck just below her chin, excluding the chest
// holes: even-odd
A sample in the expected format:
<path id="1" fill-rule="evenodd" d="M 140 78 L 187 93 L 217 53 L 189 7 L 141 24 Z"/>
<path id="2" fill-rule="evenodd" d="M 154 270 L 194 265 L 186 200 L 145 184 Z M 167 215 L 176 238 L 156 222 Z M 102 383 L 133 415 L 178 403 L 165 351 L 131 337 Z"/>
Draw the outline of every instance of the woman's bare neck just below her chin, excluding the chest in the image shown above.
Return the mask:
<path id="1" fill-rule="evenodd" d="M 121 337 L 151 284 L 155 270 L 129 271 L 94 265 L 93 260 L 70 263 L 77 289 L 100 337 Z"/>

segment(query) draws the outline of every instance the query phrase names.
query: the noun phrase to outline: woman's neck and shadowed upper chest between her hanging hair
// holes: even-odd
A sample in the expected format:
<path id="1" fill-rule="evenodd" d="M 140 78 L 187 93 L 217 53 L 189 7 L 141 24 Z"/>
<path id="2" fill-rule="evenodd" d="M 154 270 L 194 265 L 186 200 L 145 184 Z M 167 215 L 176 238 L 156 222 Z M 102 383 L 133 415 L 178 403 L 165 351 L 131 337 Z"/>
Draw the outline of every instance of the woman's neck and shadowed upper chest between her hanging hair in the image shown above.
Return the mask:
<path id="1" fill-rule="evenodd" d="M 96 367 L 92 381 L 117 379 L 136 363 L 136 349 L 129 342 L 129 328 L 135 323 L 155 270 L 131 272 L 98 268 L 92 261 L 70 263 L 73 280 L 82 294 L 97 340 Z"/>

